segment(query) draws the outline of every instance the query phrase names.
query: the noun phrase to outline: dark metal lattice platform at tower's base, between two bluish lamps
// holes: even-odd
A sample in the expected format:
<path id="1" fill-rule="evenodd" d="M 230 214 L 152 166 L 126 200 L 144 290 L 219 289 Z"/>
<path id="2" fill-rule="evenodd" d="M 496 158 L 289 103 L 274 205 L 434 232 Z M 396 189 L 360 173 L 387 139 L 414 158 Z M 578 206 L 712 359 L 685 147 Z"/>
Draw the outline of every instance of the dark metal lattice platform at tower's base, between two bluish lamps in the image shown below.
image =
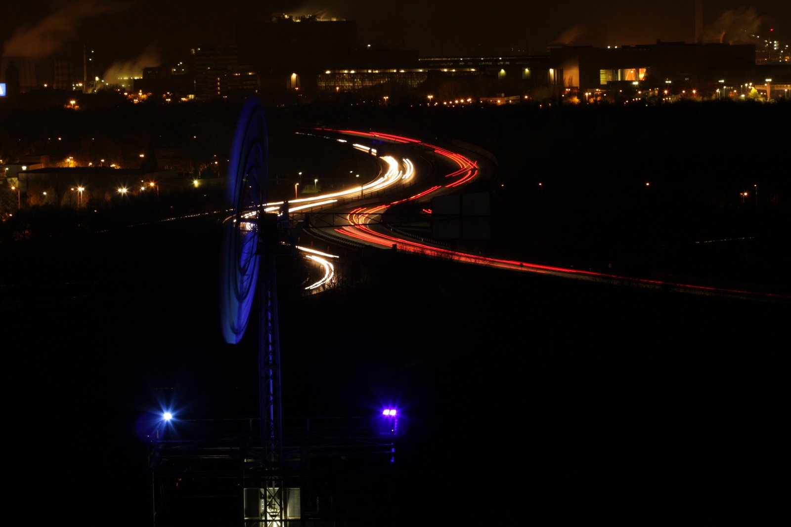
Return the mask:
<path id="1" fill-rule="evenodd" d="M 257 419 L 174 428 L 149 452 L 157 527 L 394 524 L 395 437 L 368 417 L 286 421 L 276 472 Z"/>

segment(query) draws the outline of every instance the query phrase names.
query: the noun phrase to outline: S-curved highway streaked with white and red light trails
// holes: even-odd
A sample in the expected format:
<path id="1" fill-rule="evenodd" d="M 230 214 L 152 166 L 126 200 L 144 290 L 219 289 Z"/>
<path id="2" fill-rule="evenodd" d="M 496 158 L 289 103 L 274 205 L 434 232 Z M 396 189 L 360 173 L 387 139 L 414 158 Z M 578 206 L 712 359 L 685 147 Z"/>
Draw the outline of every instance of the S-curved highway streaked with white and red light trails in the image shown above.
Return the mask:
<path id="1" fill-rule="evenodd" d="M 414 152 L 423 160 L 433 159 L 430 166 L 432 173 L 420 173 L 417 170 L 418 160 L 405 156 L 379 156 L 381 168 L 376 175 L 367 175 L 367 183 L 353 186 L 345 190 L 329 194 L 318 194 L 309 198 L 294 199 L 287 202 L 292 218 L 305 218 L 303 228 L 312 235 L 339 246 L 379 247 L 387 250 L 399 250 L 419 254 L 426 258 L 445 258 L 468 265 L 509 269 L 515 273 L 541 273 L 554 277 L 573 280 L 588 280 L 611 284 L 614 286 L 630 286 L 636 288 L 657 289 L 664 291 L 685 292 L 701 295 L 717 295 L 742 299 L 759 299 L 776 302 L 789 302 L 791 296 L 773 292 L 750 291 L 738 288 L 717 288 L 703 284 L 684 284 L 680 282 L 650 280 L 640 277 L 627 277 L 617 274 L 597 273 L 582 269 L 568 269 L 553 265 L 540 265 L 532 262 L 521 262 L 515 259 L 492 258 L 484 254 L 470 254 L 452 250 L 444 243 L 422 237 L 414 238 L 393 228 L 383 221 L 383 215 L 395 205 L 405 203 L 420 213 L 411 217 L 413 223 L 430 224 L 432 198 L 437 196 L 461 193 L 467 183 L 476 178 L 486 177 L 482 174 L 487 166 L 486 160 L 462 149 L 446 149 L 437 145 L 393 134 L 384 134 L 358 130 L 313 130 L 312 135 L 326 137 L 329 141 L 338 141 L 339 146 L 350 144 L 361 152 L 377 155 L 386 145 L 406 146 L 404 152 Z M 383 146 L 385 145 L 385 146 Z M 401 149 L 393 149 L 402 152 Z M 266 212 L 277 212 L 286 202 L 267 203 Z M 301 248 L 306 258 L 320 266 L 321 278 L 308 285 L 306 289 L 320 291 L 320 286 L 331 284 L 333 280 L 332 261 L 336 254 L 309 253 Z"/>

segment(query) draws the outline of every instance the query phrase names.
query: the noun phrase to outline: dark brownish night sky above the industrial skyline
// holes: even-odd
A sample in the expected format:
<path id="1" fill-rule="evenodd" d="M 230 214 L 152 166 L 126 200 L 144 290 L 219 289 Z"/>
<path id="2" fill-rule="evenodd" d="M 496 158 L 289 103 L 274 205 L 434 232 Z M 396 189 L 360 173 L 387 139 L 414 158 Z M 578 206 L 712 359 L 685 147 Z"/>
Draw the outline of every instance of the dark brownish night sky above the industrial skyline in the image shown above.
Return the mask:
<path id="1" fill-rule="evenodd" d="M 547 43 L 595 46 L 694 40 L 694 2 L 655 4 L 616 0 L 592 2 L 505 2 L 470 9 L 464 2 L 154 2 L 78 0 L 12 2 L 2 8 L 0 42 L 6 56 L 63 55 L 90 42 L 100 67 L 132 61 L 184 58 L 188 48 L 233 42 L 235 21 L 268 21 L 275 13 L 318 14 L 358 21 L 358 40 L 418 50 L 421 56 L 541 53 Z M 706 40 L 725 41 L 747 33 L 789 40 L 791 2 L 707 0 Z M 747 33 L 746 33 L 747 32 Z M 155 66 L 155 64 L 149 64 Z"/>

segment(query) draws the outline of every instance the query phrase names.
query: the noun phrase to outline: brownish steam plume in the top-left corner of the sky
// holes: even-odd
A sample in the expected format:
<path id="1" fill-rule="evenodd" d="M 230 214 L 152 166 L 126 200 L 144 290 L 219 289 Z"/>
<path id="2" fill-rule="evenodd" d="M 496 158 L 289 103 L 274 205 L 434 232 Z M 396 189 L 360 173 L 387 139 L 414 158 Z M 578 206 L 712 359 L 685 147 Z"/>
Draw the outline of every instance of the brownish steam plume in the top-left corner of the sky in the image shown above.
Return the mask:
<path id="1" fill-rule="evenodd" d="M 33 25 L 18 28 L 3 46 L 4 57 L 46 58 L 77 35 L 80 24 L 90 17 L 112 13 L 126 6 L 103 0 L 68 2 L 55 13 Z"/>

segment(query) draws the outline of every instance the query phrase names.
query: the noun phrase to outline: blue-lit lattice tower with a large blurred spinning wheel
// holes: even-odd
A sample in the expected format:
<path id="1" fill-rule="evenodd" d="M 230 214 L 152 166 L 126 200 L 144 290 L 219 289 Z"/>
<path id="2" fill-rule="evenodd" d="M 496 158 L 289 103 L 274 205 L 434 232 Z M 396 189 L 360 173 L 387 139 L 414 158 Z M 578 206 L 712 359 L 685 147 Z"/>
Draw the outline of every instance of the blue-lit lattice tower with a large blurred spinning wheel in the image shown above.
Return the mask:
<path id="1" fill-rule="evenodd" d="M 278 301 L 274 270 L 276 215 L 263 212 L 268 179 L 267 124 L 263 108 L 248 99 L 237 122 L 227 179 L 231 207 L 225 219 L 221 288 L 222 333 L 238 344 L 259 302 L 259 411 L 263 455 L 263 525 L 282 525 L 285 499 L 282 476 L 282 405 Z M 255 503 L 259 503 L 255 500 Z M 257 506 L 256 506 L 257 508 Z M 245 516 L 248 514 L 246 512 Z M 257 514 L 253 513 L 255 518 Z M 255 518 L 254 521 L 257 521 Z"/>

